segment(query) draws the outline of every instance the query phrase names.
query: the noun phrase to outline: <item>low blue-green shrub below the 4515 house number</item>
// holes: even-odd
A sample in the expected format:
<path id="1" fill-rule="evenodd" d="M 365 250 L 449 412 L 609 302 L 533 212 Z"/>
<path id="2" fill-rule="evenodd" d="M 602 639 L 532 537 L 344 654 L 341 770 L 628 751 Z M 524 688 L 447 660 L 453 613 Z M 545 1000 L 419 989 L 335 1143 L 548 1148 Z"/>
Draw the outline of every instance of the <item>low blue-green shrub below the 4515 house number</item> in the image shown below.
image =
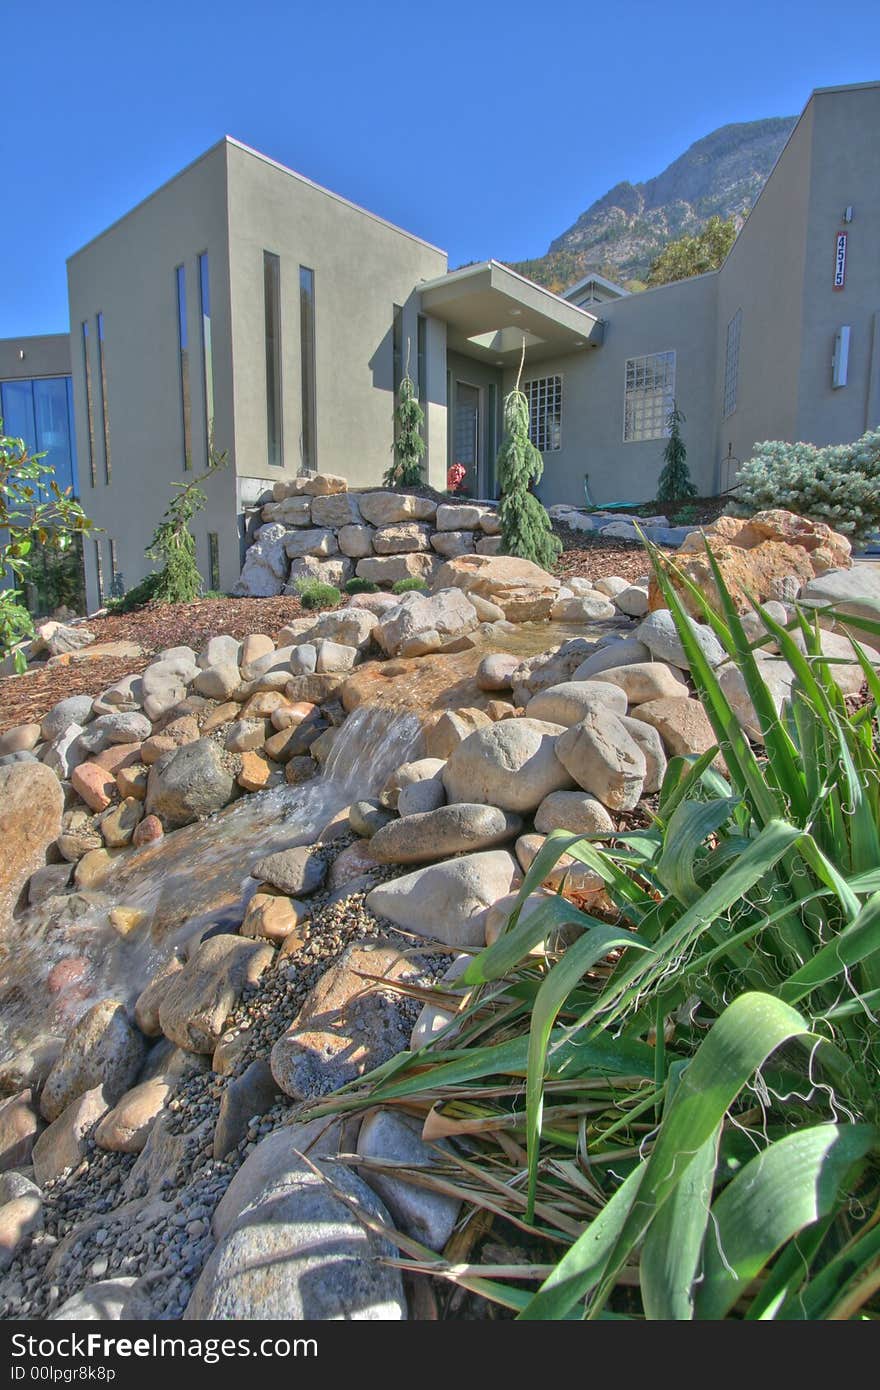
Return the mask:
<path id="1" fill-rule="evenodd" d="M 727 510 L 748 517 L 773 507 L 826 521 L 863 543 L 880 530 L 880 430 L 824 448 L 779 439 L 755 445 Z"/>

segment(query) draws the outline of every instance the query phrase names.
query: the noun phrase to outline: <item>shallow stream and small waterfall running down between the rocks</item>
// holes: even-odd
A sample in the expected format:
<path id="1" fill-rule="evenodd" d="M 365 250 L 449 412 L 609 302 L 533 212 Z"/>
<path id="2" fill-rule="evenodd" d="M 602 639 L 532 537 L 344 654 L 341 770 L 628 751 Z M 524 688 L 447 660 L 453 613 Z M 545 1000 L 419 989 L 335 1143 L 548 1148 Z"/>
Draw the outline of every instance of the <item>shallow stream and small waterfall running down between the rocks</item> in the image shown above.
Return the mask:
<path id="1" fill-rule="evenodd" d="M 311 844 L 338 810 L 375 795 L 400 763 L 420 756 L 420 745 L 417 714 L 357 709 L 323 776 L 243 796 L 124 855 L 100 891 L 65 894 L 17 917 L 0 940 L 0 1061 L 67 1033 L 99 998 L 132 1001 L 188 937 L 235 927 L 256 890 L 254 860 Z"/>

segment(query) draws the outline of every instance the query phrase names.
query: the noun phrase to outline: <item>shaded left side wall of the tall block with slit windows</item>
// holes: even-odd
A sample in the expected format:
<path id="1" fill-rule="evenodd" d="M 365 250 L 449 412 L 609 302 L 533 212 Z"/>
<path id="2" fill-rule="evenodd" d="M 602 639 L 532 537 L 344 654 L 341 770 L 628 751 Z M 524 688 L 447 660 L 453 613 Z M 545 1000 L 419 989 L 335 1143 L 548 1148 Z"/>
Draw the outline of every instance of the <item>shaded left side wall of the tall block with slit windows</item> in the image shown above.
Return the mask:
<path id="1" fill-rule="evenodd" d="M 209 578 L 209 531 L 220 543 L 221 585 L 238 578 L 239 541 L 235 507 L 235 438 L 232 413 L 232 338 L 227 250 L 225 143 L 108 228 L 68 261 L 71 356 L 76 414 L 76 449 L 82 503 L 103 528 L 106 585 L 110 546 L 131 588 L 150 570 L 143 550 L 184 471 L 178 309 L 175 267 L 186 267 L 193 473 L 206 461 L 204 385 L 199 307 L 200 252 L 207 250 L 214 360 L 214 438 L 229 452 L 229 467 L 207 484 L 207 509 L 195 521 L 199 567 Z M 104 482 L 96 314 L 104 316 L 104 356 L 110 417 L 111 482 Z M 82 321 L 89 321 L 97 485 L 89 481 L 89 442 L 82 360 Z M 86 589 L 97 605 L 95 548 L 88 541 Z M 172 641 L 174 634 L 170 634 Z"/>

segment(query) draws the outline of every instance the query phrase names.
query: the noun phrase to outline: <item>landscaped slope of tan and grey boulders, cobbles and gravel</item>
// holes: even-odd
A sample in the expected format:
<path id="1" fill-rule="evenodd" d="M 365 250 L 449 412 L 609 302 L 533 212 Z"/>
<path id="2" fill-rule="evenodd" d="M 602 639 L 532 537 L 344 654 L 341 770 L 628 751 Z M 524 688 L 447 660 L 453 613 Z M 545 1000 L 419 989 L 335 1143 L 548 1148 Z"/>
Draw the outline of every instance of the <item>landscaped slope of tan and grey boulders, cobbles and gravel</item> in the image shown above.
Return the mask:
<path id="1" fill-rule="evenodd" d="M 417 574 L 431 591 L 360 594 L 277 639 L 167 648 L 0 737 L 0 997 L 18 990 L 24 929 L 44 952 L 32 1036 L 0 1061 L 11 1316 L 425 1315 L 382 1262 L 398 1251 L 381 1227 L 435 1251 L 455 1240 L 455 1148 L 425 1143 L 405 1109 L 361 1122 L 310 1108 L 453 1016 L 456 976 L 505 930 L 549 833 L 644 824 L 667 760 L 715 746 L 646 574 L 563 585 L 492 555 L 487 509 L 349 493 L 324 475 L 296 486 L 264 509 L 249 592 L 328 566 L 335 580 Z M 858 603 L 845 542 L 774 516 L 770 541 L 760 524 L 723 528 L 742 594 L 780 620 L 801 591 Z M 755 738 L 737 667 L 710 627 L 692 631 Z M 823 651 L 858 695 L 845 635 L 826 631 Z M 791 671 L 772 645 L 762 663 L 781 709 Z M 388 766 L 367 738 L 377 709 Z M 303 842 L 299 798 L 329 784 L 348 801 Z M 247 796 L 268 808 L 271 845 L 267 833 L 241 862 L 222 910 L 161 926 L 135 891 L 140 866 L 168 855 L 181 873 L 181 837 L 227 824 Z M 614 920 L 576 859 L 523 912 L 549 892 Z M 97 908 L 132 967 L 96 986 L 74 945 Z"/>

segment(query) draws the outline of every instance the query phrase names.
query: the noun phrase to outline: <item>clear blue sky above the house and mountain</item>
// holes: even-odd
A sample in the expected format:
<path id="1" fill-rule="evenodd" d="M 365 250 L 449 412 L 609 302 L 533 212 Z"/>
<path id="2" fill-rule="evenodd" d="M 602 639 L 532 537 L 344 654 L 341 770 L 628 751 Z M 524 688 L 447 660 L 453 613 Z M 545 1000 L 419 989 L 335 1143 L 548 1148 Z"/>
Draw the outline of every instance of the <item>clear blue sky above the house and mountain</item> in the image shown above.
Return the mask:
<path id="1" fill-rule="evenodd" d="M 65 257 L 234 135 L 449 250 L 541 254 L 730 121 L 880 78 L 880 6 L 4 0 L 0 336 L 67 328 Z"/>

